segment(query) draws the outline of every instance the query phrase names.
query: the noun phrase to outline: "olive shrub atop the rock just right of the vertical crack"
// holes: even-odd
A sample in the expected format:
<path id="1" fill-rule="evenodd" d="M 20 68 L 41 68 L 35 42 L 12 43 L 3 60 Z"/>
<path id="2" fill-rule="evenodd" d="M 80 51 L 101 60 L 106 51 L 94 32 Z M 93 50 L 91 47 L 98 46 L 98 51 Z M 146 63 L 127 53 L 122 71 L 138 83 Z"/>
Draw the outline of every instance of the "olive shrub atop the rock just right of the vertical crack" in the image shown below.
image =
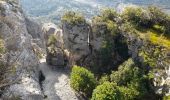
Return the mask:
<path id="1" fill-rule="evenodd" d="M 106 39 L 114 37 L 118 33 L 118 26 L 115 22 L 117 17 L 118 14 L 114 9 L 104 9 L 99 16 L 92 19 L 93 32 Z"/>

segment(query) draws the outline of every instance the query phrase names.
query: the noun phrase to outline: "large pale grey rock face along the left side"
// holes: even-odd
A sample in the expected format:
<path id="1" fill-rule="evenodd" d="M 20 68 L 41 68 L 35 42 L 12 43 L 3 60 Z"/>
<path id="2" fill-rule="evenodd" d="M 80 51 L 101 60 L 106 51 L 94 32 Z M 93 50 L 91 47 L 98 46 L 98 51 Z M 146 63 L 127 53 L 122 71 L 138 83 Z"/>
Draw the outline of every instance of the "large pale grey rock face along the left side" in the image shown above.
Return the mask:
<path id="1" fill-rule="evenodd" d="M 39 60 L 32 45 L 35 43 L 37 47 L 43 47 L 41 41 L 34 41 L 35 38 L 42 38 L 42 31 L 25 18 L 17 1 L 1 0 L 0 7 L 0 35 L 5 41 L 8 65 L 15 69 L 13 73 L 7 73 L 7 79 L 9 83 L 16 81 L 6 87 L 3 97 L 42 100 L 38 79 Z"/>

